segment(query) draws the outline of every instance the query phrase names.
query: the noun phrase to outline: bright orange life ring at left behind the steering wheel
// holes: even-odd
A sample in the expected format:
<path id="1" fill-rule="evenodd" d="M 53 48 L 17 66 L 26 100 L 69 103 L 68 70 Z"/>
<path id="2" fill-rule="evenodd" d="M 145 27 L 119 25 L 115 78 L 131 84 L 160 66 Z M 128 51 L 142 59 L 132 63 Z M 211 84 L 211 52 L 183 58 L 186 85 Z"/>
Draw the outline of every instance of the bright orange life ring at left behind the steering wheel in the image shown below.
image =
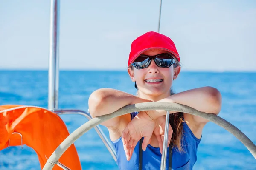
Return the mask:
<path id="1" fill-rule="evenodd" d="M 32 147 L 38 155 L 41 169 L 54 150 L 69 136 L 66 125 L 55 113 L 43 108 L 26 107 L 22 105 L 2 105 L 0 111 L 13 108 L 11 111 L 0 113 L 0 150 L 10 146 L 20 146 L 21 136 L 12 134 L 18 132 L 23 137 L 23 144 Z M 72 170 L 81 170 L 81 163 L 72 144 L 59 159 L 61 164 Z M 57 165 L 54 170 L 62 170 Z"/>

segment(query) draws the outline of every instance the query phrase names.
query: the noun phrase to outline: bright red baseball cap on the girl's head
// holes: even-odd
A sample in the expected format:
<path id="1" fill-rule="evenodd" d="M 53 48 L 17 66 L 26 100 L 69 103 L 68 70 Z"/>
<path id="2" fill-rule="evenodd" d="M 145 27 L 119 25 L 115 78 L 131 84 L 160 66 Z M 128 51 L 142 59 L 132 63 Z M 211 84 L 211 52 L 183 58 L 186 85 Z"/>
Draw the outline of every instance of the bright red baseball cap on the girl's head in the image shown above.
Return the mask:
<path id="1" fill-rule="evenodd" d="M 167 36 L 157 32 L 147 32 L 131 43 L 131 52 L 128 60 L 128 67 L 143 52 L 149 49 L 161 49 L 172 53 L 178 61 L 180 56 L 174 42 Z"/>

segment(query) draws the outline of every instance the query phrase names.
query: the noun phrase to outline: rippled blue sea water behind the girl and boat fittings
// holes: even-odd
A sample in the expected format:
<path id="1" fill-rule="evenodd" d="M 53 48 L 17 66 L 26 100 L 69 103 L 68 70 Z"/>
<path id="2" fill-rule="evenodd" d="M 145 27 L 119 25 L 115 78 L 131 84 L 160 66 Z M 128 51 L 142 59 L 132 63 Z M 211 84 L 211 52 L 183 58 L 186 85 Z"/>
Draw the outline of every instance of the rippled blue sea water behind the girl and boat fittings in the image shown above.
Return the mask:
<path id="1" fill-rule="evenodd" d="M 222 94 L 219 116 L 238 127 L 256 144 L 256 73 L 181 72 L 174 81 L 176 93 L 212 86 Z M 125 71 L 60 71 L 59 108 L 87 111 L 90 94 L 99 88 L 136 93 Z M 47 108 L 47 71 L 0 71 L 0 105 L 35 105 Z M 79 115 L 61 115 L 72 133 L 87 122 Z M 108 131 L 102 127 L 106 135 Z M 84 170 L 118 170 L 94 129 L 76 142 Z M 0 151 L 0 170 L 38 170 L 38 157 L 26 145 Z M 223 128 L 207 123 L 198 146 L 195 170 L 256 170 L 256 160 L 241 142 Z"/>

